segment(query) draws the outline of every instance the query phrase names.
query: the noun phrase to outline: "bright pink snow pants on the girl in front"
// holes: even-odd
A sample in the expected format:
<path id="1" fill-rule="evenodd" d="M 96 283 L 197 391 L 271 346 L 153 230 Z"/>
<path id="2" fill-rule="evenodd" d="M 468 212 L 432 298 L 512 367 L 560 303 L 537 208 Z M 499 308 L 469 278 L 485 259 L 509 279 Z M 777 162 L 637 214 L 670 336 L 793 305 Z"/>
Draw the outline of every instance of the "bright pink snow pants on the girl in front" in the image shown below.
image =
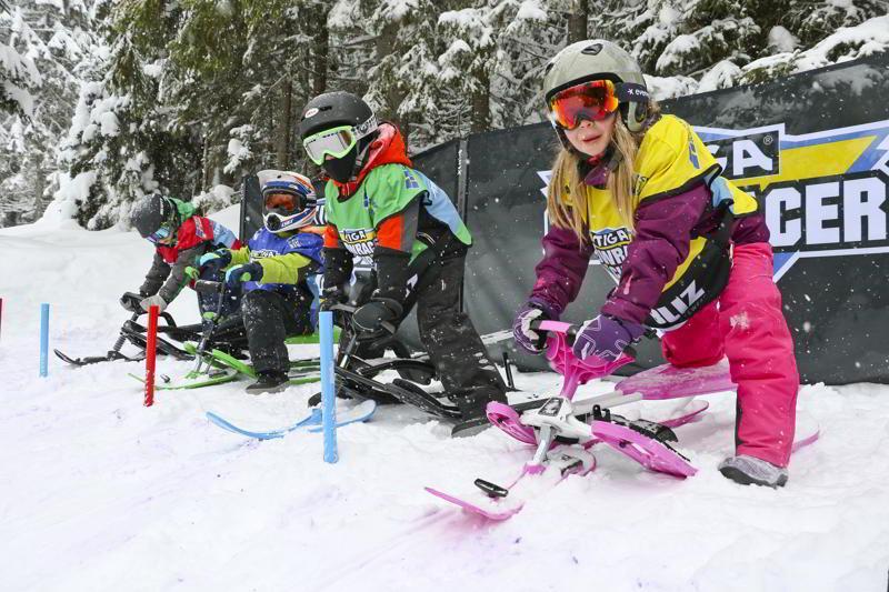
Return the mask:
<path id="1" fill-rule="evenodd" d="M 769 243 L 736 245 L 729 282 L 719 299 L 667 332 L 661 349 L 679 368 L 709 365 L 725 353 L 738 384 L 736 453 L 787 466 L 799 373 L 781 294 L 772 281 Z"/>

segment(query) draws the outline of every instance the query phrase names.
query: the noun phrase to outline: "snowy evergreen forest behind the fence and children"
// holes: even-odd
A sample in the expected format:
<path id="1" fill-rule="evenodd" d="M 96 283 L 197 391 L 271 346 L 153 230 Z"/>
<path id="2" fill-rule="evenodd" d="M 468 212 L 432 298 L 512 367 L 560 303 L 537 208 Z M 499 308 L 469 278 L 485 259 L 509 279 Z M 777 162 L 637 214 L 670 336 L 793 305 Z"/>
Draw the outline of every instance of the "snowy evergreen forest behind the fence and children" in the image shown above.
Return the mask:
<path id="1" fill-rule="evenodd" d="M 0 3 L 0 210 L 54 192 L 88 228 L 152 191 L 230 202 L 260 168 L 317 169 L 294 130 L 348 90 L 411 152 L 541 120 L 542 68 L 610 39 L 658 98 L 889 48 L 889 0 L 19 0 Z"/>

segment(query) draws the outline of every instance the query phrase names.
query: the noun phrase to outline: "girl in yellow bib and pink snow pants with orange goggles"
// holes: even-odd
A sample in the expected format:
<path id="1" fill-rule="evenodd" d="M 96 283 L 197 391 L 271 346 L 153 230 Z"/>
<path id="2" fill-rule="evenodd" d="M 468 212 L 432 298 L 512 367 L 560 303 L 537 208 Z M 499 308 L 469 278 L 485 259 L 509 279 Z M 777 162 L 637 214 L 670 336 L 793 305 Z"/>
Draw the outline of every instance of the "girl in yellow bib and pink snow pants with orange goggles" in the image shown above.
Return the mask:
<path id="1" fill-rule="evenodd" d="M 531 321 L 559 319 L 595 253 L 617 288 L 581 327 L 575 355 L 617 359 L 653 327 L 666 331 L 673 365 L 728 357 L 736 453 L 719 470 L 738 483 L 783 485 L 799 375 L 756 200 L 720 177 L 688 123 L 660 113 L 639 66 L 616 44 L 580 41 L 545 71 L 561 149 L 543 260 L 513 322 L 517 344 L 542 351 Z"/>

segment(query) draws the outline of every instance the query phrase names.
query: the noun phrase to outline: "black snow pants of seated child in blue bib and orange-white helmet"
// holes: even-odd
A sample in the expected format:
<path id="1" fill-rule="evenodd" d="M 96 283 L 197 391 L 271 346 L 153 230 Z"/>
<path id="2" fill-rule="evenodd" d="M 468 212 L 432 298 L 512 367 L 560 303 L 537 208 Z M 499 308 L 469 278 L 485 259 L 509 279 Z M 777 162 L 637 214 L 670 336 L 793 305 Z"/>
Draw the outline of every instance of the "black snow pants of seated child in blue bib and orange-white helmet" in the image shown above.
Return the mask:
<path id="1" fill-rule="evenodd" d="M 243 327 L 250 347 L 250 360 L 257 372 L 287 372 L 290 358 L 284 340 L 312 332 L 312 294 L 299 285 L 296 294 L 284 297 L 268 290 L 251 290 L 241 301 Z"/>

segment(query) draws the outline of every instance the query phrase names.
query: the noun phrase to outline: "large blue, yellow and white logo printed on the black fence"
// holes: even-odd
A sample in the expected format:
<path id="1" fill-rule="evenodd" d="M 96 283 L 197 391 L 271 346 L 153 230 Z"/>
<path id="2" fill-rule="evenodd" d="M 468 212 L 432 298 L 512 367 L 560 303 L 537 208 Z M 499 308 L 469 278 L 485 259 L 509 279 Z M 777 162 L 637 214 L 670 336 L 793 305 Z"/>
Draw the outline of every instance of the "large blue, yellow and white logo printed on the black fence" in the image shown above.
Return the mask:
<path id="1" fill-rule="evenodd" d="M 722 177 L 759 201 L 776 281 L 800 258 L 889 253 L 889 120 L 799 136 L 783 124 L 695 130 Z M 550 171 L 538 174 L 549 184 Z"/>

